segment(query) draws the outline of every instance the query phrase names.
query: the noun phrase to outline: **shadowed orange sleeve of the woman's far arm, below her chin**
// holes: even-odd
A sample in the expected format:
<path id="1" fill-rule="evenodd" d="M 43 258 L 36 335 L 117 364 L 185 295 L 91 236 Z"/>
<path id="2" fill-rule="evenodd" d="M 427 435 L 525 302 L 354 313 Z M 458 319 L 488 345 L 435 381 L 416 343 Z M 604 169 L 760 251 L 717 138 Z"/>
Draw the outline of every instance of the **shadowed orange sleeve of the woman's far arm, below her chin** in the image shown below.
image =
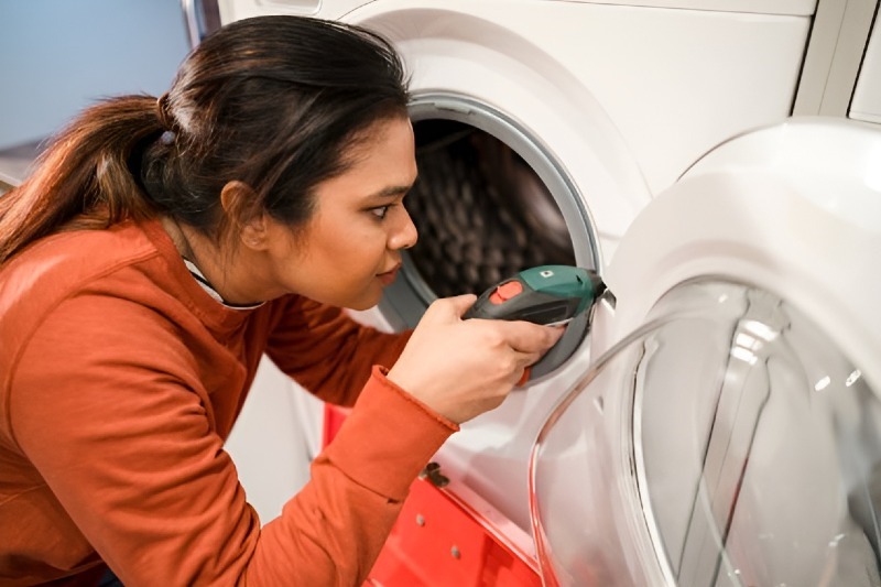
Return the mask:
<path id="1" fill-rule="evenodd" d="M 351 406 L 374 365 L 391 368 L 411 331 L 389 334 L 345 311 L 290 296 L 279 308 L 267 355 L 284 373 L 322 400 Z"/>

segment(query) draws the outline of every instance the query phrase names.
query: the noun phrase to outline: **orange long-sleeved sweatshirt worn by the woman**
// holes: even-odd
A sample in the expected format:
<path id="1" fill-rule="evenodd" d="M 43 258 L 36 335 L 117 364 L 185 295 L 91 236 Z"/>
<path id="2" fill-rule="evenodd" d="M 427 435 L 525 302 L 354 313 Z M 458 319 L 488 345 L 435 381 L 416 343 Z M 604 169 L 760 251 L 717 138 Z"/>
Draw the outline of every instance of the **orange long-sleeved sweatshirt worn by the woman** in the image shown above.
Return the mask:
<path id="1" fill-rule="evenodd" d="M 404 343 L 297 296 L 225 307 L 155 221 L 43 239 L 0 269 L 0 585 L 359 584 L 457 430 L 371 369 Z M 261 529 L 224 442 L 263 352 L 358 401 Z"/>

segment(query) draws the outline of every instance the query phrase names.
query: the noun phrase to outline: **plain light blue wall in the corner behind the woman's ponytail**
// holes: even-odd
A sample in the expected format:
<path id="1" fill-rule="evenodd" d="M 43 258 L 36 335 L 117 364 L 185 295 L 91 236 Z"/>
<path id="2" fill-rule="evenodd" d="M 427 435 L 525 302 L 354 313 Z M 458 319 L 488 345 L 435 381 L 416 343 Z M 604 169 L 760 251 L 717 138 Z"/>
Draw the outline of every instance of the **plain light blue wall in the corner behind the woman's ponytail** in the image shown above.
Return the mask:
<path id="1" fill-rule="evenodd" d="M 162 94 L 187 51 L 180 0 L 0 0 L 0 150 L 98 98 Z"/>

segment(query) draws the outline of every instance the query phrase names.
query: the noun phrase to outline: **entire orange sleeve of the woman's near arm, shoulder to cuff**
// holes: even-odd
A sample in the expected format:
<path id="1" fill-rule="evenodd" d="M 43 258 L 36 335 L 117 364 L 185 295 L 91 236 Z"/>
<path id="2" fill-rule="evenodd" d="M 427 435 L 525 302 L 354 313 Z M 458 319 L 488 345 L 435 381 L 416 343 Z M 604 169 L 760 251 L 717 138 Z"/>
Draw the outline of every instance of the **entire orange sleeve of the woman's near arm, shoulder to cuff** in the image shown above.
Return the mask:
<path id="1" fill-rule="evenodd" d="M 363 581 L 456 425 L 374 369 L 312 480 L 261 529 L 192 360 L 146 308 L 86 297 L 53 312 L 18 362 L 10 420 L 63 514 L 130 587 Z"/>

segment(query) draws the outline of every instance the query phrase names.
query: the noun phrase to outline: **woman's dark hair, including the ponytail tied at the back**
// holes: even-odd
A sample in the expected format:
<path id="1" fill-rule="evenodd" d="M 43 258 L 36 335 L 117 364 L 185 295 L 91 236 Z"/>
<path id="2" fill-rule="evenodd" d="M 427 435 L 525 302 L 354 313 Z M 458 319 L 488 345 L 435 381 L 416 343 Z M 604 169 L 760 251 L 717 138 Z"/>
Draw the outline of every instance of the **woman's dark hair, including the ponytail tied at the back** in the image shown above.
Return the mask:
<path id="1" fill-rule="evenodd" d="M 352 163 L 380 121 L 406 117 L 400 57 L 354 25 L 298 17 L 228 24 L 181 65 L 167 94 L 86 109 L 0 197 L 0 263 L 59 230 L 167 215 L 214 238 L 265 211 L 291 227 L 314 188 Z M 228 218 L 220 192 L 254 192 Z"/>

